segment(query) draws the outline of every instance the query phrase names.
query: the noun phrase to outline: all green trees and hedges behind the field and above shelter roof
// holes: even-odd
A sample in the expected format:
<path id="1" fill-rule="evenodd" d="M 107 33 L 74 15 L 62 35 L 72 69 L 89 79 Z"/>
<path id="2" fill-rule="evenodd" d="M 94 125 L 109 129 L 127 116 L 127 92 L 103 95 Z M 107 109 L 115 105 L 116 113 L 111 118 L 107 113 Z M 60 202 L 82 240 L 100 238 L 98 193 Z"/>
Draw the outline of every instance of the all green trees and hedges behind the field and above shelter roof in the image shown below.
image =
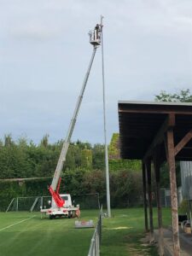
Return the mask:
<path id="1" fill-rule="evenodd" d="M 160 102 L 192 102 L 189 90 L 178 93 L 161 91 L 155 96 Z M 0 140 L 0 210 L 9 200 L 17 196 L 49 195 L 47 186 L 51 183 L 63 141 L 49 143 L 45 135 L 38 144 L 28 142 L 25 137 L 17 141 L 11 135 Z M 141 162 L 119 159 L 119 134 L 113 134 L 108 147 L 110 191 L 112 207 L 131 205 L 142 198 Z M 99 193 L 105 201 L 105 157 L 104 145 L 73 142 L 67 152 L 63 167 L 61 192 L 72 195 Z M 10 178 L 39 177 L 38 180 L 4 182 Z M 47 177 L 47 179 L 41 179 Z M 153 179 L 154 180 L 154 179 Z M 180 184 L 179 163 L 177 163 L 177 185 Z M 167 165 L 161 166 L 162 188 L 169 186 Z M 4 208 L 3 208 L 4 209 Z"/>

